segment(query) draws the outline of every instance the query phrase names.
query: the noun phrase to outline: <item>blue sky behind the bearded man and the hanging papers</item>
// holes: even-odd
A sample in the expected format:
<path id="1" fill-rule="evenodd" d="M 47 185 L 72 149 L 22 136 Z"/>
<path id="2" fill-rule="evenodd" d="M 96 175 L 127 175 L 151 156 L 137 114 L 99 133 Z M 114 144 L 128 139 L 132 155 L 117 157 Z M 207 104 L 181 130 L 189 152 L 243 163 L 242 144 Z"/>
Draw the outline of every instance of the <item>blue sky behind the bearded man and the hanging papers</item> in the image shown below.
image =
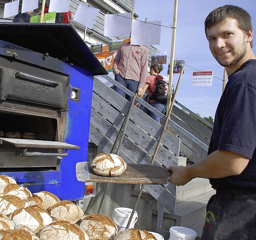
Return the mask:
<path id="1" fill-rule="evenodd" d="M 176 100 L 203 117 L 214 114 L 222 94 L 222 80 L 224 68 L 213 58 L 208 48 L 208 41 L 204 34 L 204 20 L 214 8 L 232 4 L 247 10 L 252 17 L 252 26 L 256 29 L 256 1 L 255 0 L 179 0 L 176 30 L 176 45 L 174 59 L 185 59 L 186 65 L 197 70 L 213 71 L 212 87 L 192 87 L 192 72 L 196 71 L 185 66 Z M 162 25 L 173 24 L 174 0 L 136 0 L 135 10 L 139 20 L 162 20 Z M 255 33 L 256 34 L 256 33 Z M 154 46 L 158 50 L 167 50 L 170 57 L 172 29 L 162 27 L 161 45 Z M 256 46 L 256 35 L 254 36 Z M 255 47 L 254 47 L 255 48 Z M 254 53 L 256 54 L 255 50 Z M 170 61 L 168 58 L 167 61 Z M 164 65 L 162 75 L 167 74 L 167 64 Z M 220 78 L 220 79 L 218 79 Z M 228 79 L 226 78 L 226 81 Z M 178 74 L 174 74 L 174 88 L 178 81 Z"/>

